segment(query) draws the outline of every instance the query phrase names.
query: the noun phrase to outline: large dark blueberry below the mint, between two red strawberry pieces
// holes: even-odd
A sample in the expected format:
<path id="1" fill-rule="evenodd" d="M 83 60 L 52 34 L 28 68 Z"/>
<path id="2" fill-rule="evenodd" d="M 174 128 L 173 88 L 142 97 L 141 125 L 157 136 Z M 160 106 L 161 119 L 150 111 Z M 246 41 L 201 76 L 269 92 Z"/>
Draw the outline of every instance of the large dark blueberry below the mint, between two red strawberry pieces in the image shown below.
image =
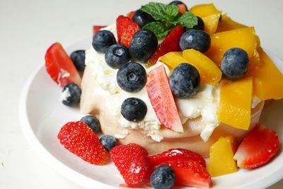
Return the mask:
<path id="1" fill-rule="evenodd" d="M 146 62 L 158 45 L 156 35 L 149 30 L 139 30 L 129 44 L 129 55 L 134 61 Z"/>

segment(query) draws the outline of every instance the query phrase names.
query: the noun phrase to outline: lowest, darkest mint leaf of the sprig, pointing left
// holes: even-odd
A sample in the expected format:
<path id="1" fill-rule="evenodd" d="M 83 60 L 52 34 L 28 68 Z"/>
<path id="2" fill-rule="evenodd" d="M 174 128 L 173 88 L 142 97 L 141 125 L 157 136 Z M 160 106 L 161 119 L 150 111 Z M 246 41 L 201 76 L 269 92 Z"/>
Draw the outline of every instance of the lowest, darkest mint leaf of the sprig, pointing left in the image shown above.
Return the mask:
<path id="1" fill-rule="evenodd" d="M 152 31 L 158 39 L 165 38 L 170 32 L 166 25 L 161 22 L 148 23 L 144 25 L 143 29 Z"/>

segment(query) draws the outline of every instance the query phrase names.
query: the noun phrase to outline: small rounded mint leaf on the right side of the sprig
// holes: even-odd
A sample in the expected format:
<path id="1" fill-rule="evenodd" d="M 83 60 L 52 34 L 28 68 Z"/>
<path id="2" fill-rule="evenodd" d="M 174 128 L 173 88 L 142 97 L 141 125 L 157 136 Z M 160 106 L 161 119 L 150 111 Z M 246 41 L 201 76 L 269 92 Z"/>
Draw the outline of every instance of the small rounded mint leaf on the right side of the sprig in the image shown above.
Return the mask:
<path id="1" fill-rule="evenodd" d="M 192 28 L 197 25 L 197 16 L 186 11 L 183 15 L 178 15 L 175 21 L 172 21 L 171 23 L 174 25 L 184 25 L 187 28 Z"/>

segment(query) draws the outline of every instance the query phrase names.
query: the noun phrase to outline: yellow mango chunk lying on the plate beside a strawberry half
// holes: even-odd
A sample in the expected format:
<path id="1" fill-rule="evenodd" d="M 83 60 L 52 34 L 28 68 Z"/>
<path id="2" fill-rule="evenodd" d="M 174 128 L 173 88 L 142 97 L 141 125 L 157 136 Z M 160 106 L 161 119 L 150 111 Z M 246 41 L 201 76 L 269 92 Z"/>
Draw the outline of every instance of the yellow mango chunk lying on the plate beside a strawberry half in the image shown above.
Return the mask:
<path id="1" fill-rule="evenodd" d="M 233 159 L 236 149 L 236 138 L 233 136 L 221 137 L 212 144 L 209 149 L 208 164 L 208 171 L 212 177 L 238 171 L 236 161 Z"/>

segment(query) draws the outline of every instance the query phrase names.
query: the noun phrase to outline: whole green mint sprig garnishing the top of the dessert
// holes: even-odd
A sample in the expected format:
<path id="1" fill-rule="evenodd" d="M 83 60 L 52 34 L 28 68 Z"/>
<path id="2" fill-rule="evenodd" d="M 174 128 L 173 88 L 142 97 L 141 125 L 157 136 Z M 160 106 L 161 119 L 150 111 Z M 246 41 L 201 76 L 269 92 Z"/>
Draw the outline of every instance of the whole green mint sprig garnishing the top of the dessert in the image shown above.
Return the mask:
<path id="1" fill-rule="evenodd" d="M 197 16 L 186 11 L 179 13 L 179 8 L 175 4 L 166 5 L 150 2 L 141 6 L 141 11 L 150 14 L 156 22 L 144 25 L 143 29 L 151 30 L 157 38 L 165 38 L 176 25 L 183 25 L 192 28 L 197 25 Z"/>

